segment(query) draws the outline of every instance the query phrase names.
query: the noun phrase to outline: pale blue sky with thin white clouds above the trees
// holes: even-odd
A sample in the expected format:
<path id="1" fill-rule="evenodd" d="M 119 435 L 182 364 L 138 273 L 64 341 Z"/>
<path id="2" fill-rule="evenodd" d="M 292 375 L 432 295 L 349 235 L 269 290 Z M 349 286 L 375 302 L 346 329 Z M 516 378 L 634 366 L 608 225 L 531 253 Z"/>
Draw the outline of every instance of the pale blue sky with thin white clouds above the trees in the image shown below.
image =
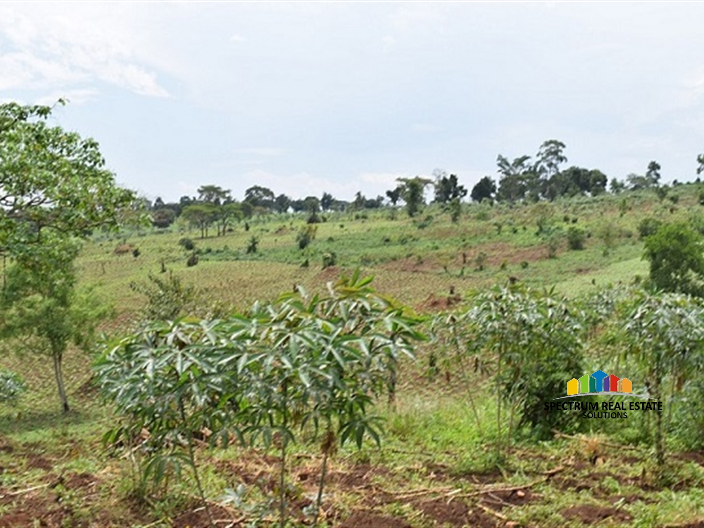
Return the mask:
<path id="1" fill-rule="evenodd" d="M 177 201 L 372 198 L 566 144 L 623 180 L 696 178 L 704 4 L 0 4 L 0 102 L 54 104 L 119 184 Z M 565 165 L 565 168 L 566 166 Z"/>

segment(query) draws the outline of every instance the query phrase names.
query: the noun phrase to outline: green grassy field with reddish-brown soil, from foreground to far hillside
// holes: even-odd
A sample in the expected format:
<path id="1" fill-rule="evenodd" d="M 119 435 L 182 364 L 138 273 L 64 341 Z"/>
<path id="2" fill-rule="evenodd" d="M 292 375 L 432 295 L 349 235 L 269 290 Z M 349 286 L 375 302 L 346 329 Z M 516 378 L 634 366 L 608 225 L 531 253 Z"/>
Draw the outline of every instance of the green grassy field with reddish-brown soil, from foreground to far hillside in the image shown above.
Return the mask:
<path id="1" fill-rule="evenodd" d="M 185 225 L 134 227 L 95 233 L 77 268 L 81 287 L 113 307 L 102 325 L 113 336 L 133 329 L 146 303 L 130 284 L 146 284 L 163 270 L 194 284 L 201 302 L 220 310 L 273 300 L 294 285 L 325 291 L 356 268 L 375 277 L 377 291 L 418 313 L 452 308 L 509 281 L 576 298 L 645 279 L 639 222 L 654 217 L 704 226 L 700 190 L 696 184 L 674 187 L 676 203 L 640 191 L 514 206 L 463 204 L 456 223 L 435 205 L 415 218 L 401 208 L 324 213 L 302 250 L 296 236 L 308 228 L 303 215 L 252 218 L 249 230 L 235 223 L 224 236 L 203 239 Z M 569 248 L 570 227 L 584 232 L 584 249 Z M 257 251 L 247 253 L 252 237 Z M 183 238 L 194 241 L 197 265 L 187 265 L 193 252 L 179 244 Z M 324 256 L 332 254 L 335 264 L 324 269 Z M 0 366 L 19 372 L 29 387 L 15 405 L 0 404 L 0 528 L 207 525 L 189 474 L 169 494 L 135 496 L 130 460 L 101 442 L 115 416 L 91 384 L 89 353 L 72 348 L 66 354 L 73 410 L 61 415 L 51 360 L 25 350 L 22 341 L 0 345 Z M 427 375 L 432 346 L 418 349 L 417 363 L 402 365 L 396 408 L 379 406 L 386 418 L 382 448 L 365 444 L 334 455 L 327 526 L 704 526 L 704 452 L 673 453 L 667 485 L 656 482 L 653 454 L 639 442 L 650 424 L 635 417 L 621 429 L 519 441 L 498 460 L 489 448 L 496 437 L 489 384 L 478 373 Z M 198 457 L 218 526 L 275 523 L 268 509 L 275 453 L 203 447 Z M 298 509 L 291 526 L 310 522 L 306 505 L 320 458 L 317 445 L 294 448 L 289 483 Z M 225 489 L 240 485 L 237 501 L 221 501 Z"/>

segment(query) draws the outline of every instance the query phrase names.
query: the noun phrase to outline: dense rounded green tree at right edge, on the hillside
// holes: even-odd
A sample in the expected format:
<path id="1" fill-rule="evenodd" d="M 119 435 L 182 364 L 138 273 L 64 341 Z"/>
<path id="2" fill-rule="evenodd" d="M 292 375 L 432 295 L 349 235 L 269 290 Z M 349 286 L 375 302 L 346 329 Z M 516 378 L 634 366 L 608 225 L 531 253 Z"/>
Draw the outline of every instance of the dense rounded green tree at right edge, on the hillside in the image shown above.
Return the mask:
<path id="1" fill-rule="evenodd" d="M 683 223 L 662 225 L 645 239 L 655 289 L 704 296 L 702 236 Z"/>

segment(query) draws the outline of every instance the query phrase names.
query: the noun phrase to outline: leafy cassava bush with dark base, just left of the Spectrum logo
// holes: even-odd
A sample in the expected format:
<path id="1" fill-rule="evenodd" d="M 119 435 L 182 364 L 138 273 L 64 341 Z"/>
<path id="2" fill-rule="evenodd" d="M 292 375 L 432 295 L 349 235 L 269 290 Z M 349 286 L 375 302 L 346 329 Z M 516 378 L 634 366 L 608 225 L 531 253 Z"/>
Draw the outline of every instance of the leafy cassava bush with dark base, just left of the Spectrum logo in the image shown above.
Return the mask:
<path id="1" fill-rule="evenodd" d="M 515 425 L 527 426 L 538 438 L 579 424 L 577 413 L 548 413 L 544 408 L 546 401 L 564 396 L 567 380 L 583 370 L 582 323 L 574 314 L 577 310 L 565 298 L 513 287 L 477 296 L 464 316 L 474 336 L 470 352 L 497 365 L 493 383 L 508 406 L 502 421 L 509 438 L 517 430 L 512 429 L 514 411 Z"/>

